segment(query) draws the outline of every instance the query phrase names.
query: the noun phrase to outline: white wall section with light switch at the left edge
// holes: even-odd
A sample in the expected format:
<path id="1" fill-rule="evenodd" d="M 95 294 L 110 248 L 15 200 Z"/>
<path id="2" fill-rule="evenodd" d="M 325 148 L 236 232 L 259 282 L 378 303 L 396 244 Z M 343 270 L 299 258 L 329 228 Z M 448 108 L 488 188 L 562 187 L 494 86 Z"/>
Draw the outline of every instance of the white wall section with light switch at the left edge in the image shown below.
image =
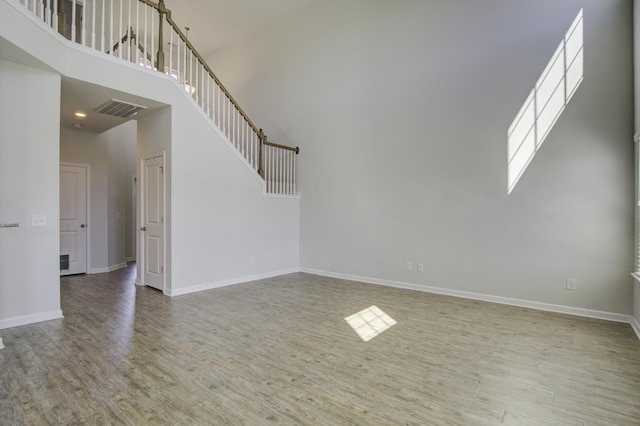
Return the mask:
<path id="1" fill-rule="evenodd" d="M 60 318 L 60 76 L 0 60 L 0 329 Z M 46 216 L 44 227 L 31 215 Z"/>

